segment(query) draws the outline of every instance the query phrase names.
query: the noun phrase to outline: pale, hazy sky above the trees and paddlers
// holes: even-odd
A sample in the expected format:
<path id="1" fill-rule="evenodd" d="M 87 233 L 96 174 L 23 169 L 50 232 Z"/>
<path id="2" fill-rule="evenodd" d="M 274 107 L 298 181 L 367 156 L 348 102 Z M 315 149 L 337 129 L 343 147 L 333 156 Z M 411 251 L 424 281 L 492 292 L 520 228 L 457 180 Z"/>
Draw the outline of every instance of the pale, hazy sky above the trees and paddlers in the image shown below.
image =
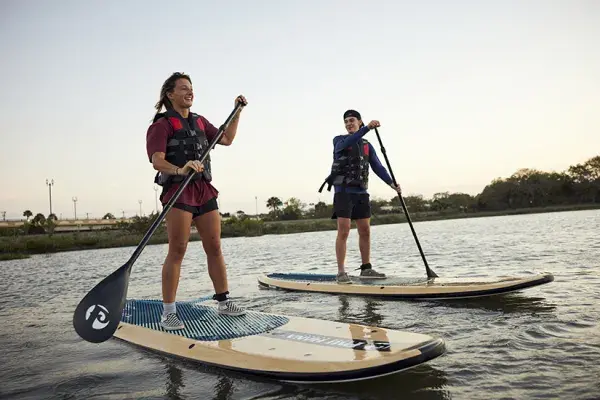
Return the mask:
<path id="1" fill-rule="evenodd" d="M 146 132 L 164 80 L 232 146 L 211 153 L 222 212 L 331 203 L 318 188 L 343 113 L 379 120 L 404 195 L 476 195 L 520 168 L 600 154 L 600 2 L 0 2 L 0 211 L 155 210 Z M 370 140 L 382 162 L 375 132 Z M 371 172 L 371 197 L 394 192 Z"/>

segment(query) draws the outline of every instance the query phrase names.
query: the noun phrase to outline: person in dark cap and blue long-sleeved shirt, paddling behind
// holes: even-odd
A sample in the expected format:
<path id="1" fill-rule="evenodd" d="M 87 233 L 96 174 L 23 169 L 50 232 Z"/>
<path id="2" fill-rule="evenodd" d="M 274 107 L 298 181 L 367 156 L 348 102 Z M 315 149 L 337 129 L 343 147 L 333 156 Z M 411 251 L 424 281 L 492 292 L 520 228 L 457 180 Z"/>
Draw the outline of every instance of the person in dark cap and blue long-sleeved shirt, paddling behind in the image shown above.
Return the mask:
<path id="1" fill-rule="evenodd" d="M 371 203 L 369 200 L 369 167 L 375 174 L 396 192 L 400 185 L 394 182 L 385 167 L 379 161 L 375 149 L 363 138 L 371 129 L 381 126 L 373 120 L 364 125 L 360 113 L 348 110 L 344 113 L 346 135 L 333 138 L 333 165 L 330 175 L 321 185 L 319 192 L 327 184 L 327 190 L 334 189 L 333 216 L 337 219 L 337 239 L 335 253 L 338 264 L 337 282 L 351 283 L 346 273 L 346 242 L 350 234 L 352 220 L 358 230 L 358 247 L 362 259 L 360 277 L 363 279 L 383 279 L 385 274 L 377 272 L 371 266 Z M 358 268 L 357 268 L 358 269 Z"/>

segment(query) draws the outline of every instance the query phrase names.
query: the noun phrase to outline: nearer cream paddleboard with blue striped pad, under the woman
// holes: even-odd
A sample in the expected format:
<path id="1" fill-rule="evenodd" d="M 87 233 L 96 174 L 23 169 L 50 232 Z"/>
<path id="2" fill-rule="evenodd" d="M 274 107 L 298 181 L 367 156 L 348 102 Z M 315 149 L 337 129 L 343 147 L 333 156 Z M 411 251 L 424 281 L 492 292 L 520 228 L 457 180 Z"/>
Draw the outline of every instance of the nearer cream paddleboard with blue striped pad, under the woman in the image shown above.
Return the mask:
<path id="1" fill-rule="evenodd" d="M 445 353 L 443 339 L 360 324 L 248 310 L 227 316 L 202 302 L 177 302 L 185 329 L 160 325 L 160 300 L 129 299 L 114 337 L 204 365 L 279 381 L 371 379 Z"/>

